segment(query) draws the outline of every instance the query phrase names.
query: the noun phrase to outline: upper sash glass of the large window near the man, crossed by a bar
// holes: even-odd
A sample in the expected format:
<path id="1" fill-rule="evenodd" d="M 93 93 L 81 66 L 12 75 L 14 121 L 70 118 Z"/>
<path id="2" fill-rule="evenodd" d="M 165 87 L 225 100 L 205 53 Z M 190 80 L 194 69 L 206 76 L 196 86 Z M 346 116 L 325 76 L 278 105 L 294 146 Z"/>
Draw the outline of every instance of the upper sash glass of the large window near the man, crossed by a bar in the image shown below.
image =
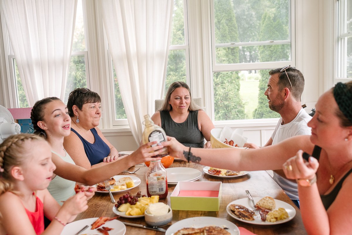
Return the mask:
<path id="1" fill-rule="evenodd" d="M 290 40 L 289 17 L 289 0 L 214 0 L 215 46 Z M 291 45 L 285 43 L 216 48 L 216 64 L 287 61 Z"/>

